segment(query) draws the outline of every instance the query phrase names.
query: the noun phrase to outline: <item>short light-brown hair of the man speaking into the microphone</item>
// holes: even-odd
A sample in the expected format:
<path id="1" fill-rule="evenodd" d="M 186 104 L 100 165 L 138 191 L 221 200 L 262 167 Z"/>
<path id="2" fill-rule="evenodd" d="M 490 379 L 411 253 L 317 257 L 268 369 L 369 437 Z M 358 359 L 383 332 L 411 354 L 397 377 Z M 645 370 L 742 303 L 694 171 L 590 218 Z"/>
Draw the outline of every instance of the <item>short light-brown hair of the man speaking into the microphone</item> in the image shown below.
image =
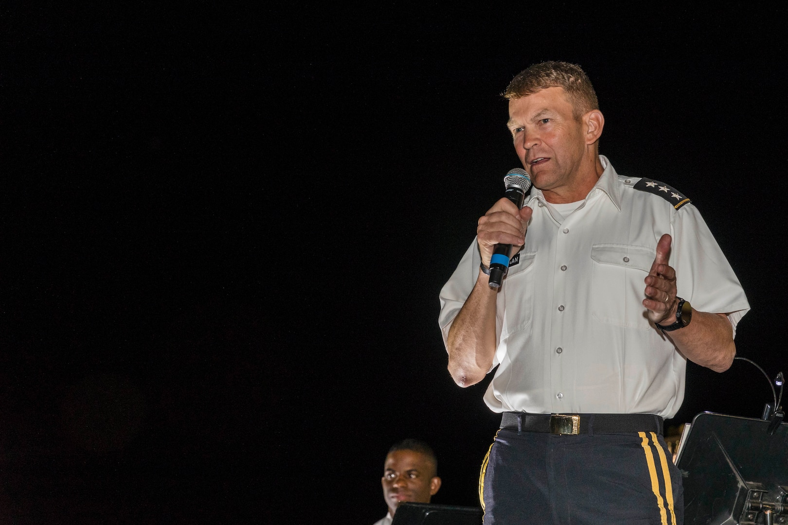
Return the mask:
<path id="1" fill-rule="evenodd" d="M 548 87 L 563 87 L 575 120 L 580 120 L 592 109 L 599 109 L 597 92 L 593 91 L 591 80 L 579 65 L 569 62 L 548 61 L 531 65 L 511 79 L 503 96 L 509 100 L 522 98 Z"/>

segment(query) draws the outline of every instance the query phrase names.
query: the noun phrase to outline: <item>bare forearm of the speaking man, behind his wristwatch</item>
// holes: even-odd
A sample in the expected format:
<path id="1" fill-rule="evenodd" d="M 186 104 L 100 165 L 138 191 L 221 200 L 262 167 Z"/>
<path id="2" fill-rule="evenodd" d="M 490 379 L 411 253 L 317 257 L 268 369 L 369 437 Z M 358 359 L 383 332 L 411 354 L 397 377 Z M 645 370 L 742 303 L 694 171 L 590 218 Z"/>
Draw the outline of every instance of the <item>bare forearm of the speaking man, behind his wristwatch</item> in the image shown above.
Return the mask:
<path id="1" fill-rule="evenodd" d="M 736 343 L 725 314 L 693 309 L 692 322 L 667 336 L 684 357 L 715 372 L 725 372 L 734 362 Z"/>

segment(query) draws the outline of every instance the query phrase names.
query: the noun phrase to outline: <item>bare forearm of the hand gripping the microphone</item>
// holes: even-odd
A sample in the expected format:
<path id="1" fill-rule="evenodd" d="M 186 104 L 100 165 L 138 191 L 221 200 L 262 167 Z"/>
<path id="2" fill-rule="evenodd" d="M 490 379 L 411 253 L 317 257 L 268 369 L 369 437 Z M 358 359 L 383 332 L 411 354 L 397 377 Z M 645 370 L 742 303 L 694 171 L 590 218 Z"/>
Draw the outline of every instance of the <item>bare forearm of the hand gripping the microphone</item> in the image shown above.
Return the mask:
<path id="1" fill-rule="evenodd" d="M 448 371 L 459 386 L 471 386 L 492 366 L 496 349 L 496 297 L 488 276 L 479 271 L 474 290 L 448 331 Z"/>

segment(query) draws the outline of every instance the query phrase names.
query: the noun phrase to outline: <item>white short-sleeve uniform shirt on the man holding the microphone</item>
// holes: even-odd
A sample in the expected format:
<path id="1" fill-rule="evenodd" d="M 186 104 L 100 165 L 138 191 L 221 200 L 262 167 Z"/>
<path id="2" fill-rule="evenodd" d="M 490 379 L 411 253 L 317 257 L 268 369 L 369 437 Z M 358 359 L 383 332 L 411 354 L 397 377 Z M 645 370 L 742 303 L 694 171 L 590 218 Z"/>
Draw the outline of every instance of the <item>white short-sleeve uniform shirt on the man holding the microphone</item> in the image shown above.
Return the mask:
<path id="1" fill-rule="evenodd" d="M 701 312 L 749 310 L 744 290 L 701 214 L 672 188 L 604 172 L 568 213 L 533 188 L 526 243 L 496 304 L 495 412 L 653 413 L 669 418 L 684 397 L 686 359 L 649 323 L 642 301 L 656 243 L 670 234 L 678 296 Z M 664 191 L 662 190 L 664 188 Z M 660 192 L 665 196 L 660 196 Z M 562 213 L 563 212 L 563 213 Z M 474 242 L 440 292 L 444 343 L 478 278 Z M 492 370 L 491 368 L 491 370 Z"/>

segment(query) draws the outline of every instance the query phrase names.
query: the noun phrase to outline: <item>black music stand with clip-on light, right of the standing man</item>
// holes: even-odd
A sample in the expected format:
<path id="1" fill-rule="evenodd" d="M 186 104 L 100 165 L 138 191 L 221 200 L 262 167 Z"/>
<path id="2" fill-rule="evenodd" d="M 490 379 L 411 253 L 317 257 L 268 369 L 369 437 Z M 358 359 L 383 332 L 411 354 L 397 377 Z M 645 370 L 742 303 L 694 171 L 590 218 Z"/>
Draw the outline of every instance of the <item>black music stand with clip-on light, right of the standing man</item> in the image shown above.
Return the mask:
<path id="1" fill-rule="evenodd" d="M 788 423 L 702 412 L 677 465 L 686 525 L 788 523 Z"/>

